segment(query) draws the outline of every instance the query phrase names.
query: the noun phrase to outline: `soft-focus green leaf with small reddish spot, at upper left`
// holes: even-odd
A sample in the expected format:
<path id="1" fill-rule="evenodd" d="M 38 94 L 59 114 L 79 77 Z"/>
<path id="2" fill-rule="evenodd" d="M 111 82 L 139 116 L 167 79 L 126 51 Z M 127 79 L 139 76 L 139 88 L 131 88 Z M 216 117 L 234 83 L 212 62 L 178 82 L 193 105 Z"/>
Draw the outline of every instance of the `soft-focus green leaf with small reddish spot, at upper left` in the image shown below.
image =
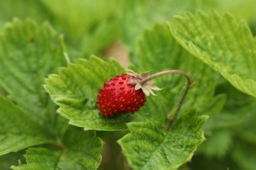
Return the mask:
<path id="1" fill-rule="evenodd" d="M 0 37 L 0 85 L 9 98 L 42 125 L 55 124 L 55 106 L 44 91 L 44 77 L 65 65 L 63 37 L 44 23 L 13 19 Z"/>

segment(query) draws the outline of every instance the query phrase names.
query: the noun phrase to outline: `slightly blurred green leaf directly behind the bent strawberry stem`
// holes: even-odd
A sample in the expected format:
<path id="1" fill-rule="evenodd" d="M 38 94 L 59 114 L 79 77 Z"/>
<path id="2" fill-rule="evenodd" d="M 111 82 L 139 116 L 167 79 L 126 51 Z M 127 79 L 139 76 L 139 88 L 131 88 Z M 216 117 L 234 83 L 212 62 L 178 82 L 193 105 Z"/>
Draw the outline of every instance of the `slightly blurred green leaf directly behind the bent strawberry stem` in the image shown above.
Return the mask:
<path id="1" fill-rule="evenodd" d="M 152 30 L 144 32 L 137 43 L 136 57 L 138 68 L 142 72 L 177 69 L 188 73 L 192 81 L 197 79 L 189 89 L 181 112 L 187 112 L 192 105 L 200 114 L 214 116 L 222 109 L 226 97 L 214 96 L 214 71 L 180 46 L 170 34 L 167 24 L 155 24 Z M 147 97 L 147 102 L 138 115 L 166 124 L 167 114 L 176 104 L 186 79 L 181 75 L 164 75 L 154 81 L 163 89 L 157 92 L 158 96 Z"/>

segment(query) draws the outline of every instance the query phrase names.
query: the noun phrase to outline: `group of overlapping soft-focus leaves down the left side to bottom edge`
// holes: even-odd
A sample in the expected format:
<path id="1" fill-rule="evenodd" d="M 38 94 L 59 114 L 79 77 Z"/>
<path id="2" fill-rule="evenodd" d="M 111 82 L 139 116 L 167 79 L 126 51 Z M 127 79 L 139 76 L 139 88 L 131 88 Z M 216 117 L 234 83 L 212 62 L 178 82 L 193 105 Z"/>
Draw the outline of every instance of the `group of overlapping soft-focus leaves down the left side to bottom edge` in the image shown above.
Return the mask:
<path id="1" fill-rule="evenodd" d="M 69 127 L 42 87 L 46 75 L 65 65 L 64 52 L 63 36 L 47 23 L 13 19 L 4 26 L 0 85 L 7 94 L 0 97 L 0 155 L 20 157 L 11 152 L 37 145 L 28 149 L 27 165 L 11 169 L 96 169 L 100 163 L 102 140 L 94 131 Z M 7 168 L 6 159 L 0 168 Z"/>

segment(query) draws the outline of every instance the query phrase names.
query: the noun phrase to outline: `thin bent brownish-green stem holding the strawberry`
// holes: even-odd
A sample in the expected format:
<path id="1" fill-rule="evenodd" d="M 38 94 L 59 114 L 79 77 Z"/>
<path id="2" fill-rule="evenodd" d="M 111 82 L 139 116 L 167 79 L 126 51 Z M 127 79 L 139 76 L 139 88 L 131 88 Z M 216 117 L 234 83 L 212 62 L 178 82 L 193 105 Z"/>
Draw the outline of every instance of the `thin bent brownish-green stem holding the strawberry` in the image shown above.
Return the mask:
<path id="1" fill-rule="evenodd" d="M 167 130 L 170 130 L 170 128 L 172 127 L 172 125 L 174 124 L 175 120 L 177 119 L 177 115 L 179 113 L 179 110 L 181 110 L 181 105 L 187 95 L 187 92 L 189 91 L 189 87 L 191 87 L 191 85 L 193 84 L 190 80 L 189 75 L 187 75 L 186 73 L 184 73 L 183 71 L 178 71 L 178 70 L 170 70 L 170 71 L 162 71 L 160 73 L 156 73 L 154 75 L 150 75 L 149 77 L 146 77 L 145 79 L 142 79 L 140 81 L 141 85 L 143 85 L 144 83 L 146 83 L 147 81 L 150 81 L 156 77 L 160 77 L 162 75 L 168 75 L 168 74 L 179 74 L 179 75 L 183 75 L 186 79 L 187 79 L 187 85 L 185 87 L 185 89 L 183 90 L 183 92 L 181 93 L 179 100 L 177 102 L 177 105 L 175 105 L 170 114 L 167 115 L 168 118 L 168 124 L 167 124 Z"/>

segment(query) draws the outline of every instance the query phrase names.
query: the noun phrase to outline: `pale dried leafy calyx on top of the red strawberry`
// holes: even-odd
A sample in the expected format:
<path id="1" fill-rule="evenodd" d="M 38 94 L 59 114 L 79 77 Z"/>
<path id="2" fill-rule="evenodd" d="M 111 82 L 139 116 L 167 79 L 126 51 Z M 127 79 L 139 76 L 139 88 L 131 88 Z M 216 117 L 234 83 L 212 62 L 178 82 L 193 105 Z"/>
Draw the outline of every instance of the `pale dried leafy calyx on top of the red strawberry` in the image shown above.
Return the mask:
<path id="1" fill-rule="evenodd" d="M 145 73 L 135 73 L 135 71 L 132 71 L 130 69 L 126 69 L 127 75 L 129 75 L 131 78 L 129 79 L 128 83 L 135 85 L 135 90 L 141 89 L 143 93 L 147 96 L 156 95 L 154 91 L 160 91 L 161 88 L 154 85 L 153 81 L 143 81 L 147 77 L 150 76 L 149 71 Z"/>

